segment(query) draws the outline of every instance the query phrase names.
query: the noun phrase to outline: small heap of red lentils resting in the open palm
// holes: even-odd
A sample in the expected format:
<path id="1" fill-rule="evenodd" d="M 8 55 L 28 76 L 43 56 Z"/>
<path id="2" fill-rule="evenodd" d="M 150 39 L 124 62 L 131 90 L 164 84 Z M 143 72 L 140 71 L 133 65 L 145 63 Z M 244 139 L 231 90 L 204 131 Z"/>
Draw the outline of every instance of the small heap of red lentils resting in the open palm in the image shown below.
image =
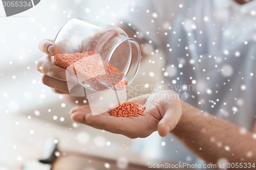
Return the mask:
<path id="1" fill-rule="evenodd" d="M 115 117 L 140 116 L 143 115 L 145 108 L 145 106 L 138 105 L 135 102 L 124 102 L 119 103 L 116 108 L 108 112 Z"/>

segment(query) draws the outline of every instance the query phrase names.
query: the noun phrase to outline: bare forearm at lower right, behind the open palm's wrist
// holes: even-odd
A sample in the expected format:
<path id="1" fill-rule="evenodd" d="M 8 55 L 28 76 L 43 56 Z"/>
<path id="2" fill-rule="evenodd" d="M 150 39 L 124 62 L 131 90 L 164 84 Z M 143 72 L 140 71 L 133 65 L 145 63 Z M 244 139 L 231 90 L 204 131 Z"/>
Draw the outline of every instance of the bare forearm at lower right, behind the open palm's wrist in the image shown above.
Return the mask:
<path id="1" fill-rule="evenodd" d="M 251 132 L 182 103 L 182 117 L 172 131 L 190 150 L 208 163 L 256 162 L 256 139 Z"/>

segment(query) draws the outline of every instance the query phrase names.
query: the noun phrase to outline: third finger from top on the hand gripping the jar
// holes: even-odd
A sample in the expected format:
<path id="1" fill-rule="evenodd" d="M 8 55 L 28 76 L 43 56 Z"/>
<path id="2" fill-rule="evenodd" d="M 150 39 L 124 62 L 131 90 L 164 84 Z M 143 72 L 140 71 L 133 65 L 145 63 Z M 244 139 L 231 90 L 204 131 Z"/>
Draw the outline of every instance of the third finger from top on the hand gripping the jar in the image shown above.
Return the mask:
<path id="1" fill-rule="evenodd" d="M 49 76 L 42 76 L 42 83 L 59 91 L 69 93 L 67 82 Z"/>

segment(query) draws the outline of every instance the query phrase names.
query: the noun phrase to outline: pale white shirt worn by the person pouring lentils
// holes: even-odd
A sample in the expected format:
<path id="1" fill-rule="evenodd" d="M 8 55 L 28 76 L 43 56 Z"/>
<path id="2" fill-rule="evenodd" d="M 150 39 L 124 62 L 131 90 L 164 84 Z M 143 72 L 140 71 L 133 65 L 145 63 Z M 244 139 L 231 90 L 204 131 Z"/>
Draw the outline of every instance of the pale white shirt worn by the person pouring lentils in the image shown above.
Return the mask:
<path id="1" fill-rule="evenodd" d="M 180 96 L 251 130 L 256 113 L 256 1 L 245 5 L 231 0 L 136 2 L 123 21 L 164 53 L 163 74 L 170 84 L 184 87 L 177 91 Z M 186 90 L 189 85 L 194 89 Z M 214 139 L 209 141 L 222 142 Z M 200 162 L 172 135 L 160 138 L 155 133 L 139 139 L 136 146 L 153 157 Z"/>

